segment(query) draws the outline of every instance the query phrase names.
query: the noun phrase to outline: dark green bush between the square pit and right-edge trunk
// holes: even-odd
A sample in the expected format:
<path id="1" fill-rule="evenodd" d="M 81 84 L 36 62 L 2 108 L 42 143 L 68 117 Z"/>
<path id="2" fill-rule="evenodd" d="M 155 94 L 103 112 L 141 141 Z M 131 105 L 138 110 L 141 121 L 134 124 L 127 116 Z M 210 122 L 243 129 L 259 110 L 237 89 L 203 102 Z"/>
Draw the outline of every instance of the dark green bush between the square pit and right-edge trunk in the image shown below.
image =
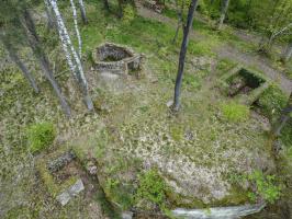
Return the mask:
<path id="1" fill-rule="evenodd" d="M 288 96 L 276 84 L 268 88 L 259 99 L 262 113 L 271 120 L 277 119 L 283 107 L 285 107 Z"/>

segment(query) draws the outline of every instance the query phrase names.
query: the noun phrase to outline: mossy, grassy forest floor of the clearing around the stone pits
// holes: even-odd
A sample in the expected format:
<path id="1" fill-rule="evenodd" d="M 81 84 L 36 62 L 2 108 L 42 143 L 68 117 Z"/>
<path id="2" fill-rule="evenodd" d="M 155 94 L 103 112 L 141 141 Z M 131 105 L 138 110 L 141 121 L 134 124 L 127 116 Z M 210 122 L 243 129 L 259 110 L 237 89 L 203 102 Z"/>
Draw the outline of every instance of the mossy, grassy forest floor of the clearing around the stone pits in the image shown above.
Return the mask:
<path id="1" fill-rule="evenodd" d="M 68 27 L 74 30 L 70 10 L 61 9 L 67 24 L 70 22 Z M 0 81 L 0 145 L 3 146 L 0 148 L 0 168 L 5 173 L 0 182 L 0 217 L 105 217 L 104 209 L 101 209 L 104 206 L 92 194 L 77 196 L 60 207 L 48 193 L 36 163 L 44 162 L 59 149 L 74 149 L 80 160 L 94 159 L 106 198 L 122 209 L 134 204 L 153 207 L 135 195 L 141 178 L 150 170 L 157 171 L 170 188 L 164 191 L 169 209 L 250 203 L 248 194 L 257 188 L 252 182 L 238 185 L 236 178 L 243 180 L 243 175 L 256 170 L 274 174 L 276 168 L 269 145 L 268 119 L 251 107 L 248 115 L 243 115 L 243 120 L 232 122 L 223 111 L 233 100 L 221 92 L 217 82 L 237 62 L 229 60 L 233 53 L 223 58 L 218 51 L 226 46 L 225 41 L 235 44 L 237 38 L 214 36 L 206 26 L 194 24 L 202 32 L 192 32 L 182 84 L 182 108 L 173 115 L 167 103 L 172 100 L 181 39 L 180 34 L 178 41 L 171 43 L 175 20 L 142 10 L 139 13 L 147 14 L 128 24 L 105 13 L 101 2 L 89 3 L 87 10 L 89 24 L 81 25 L 80 31 L 86 77 L 96 113 L 87 112 L 67 71 L 65 58 L 60 56 L 63 51 L 54 31 L 48 33 L 43 25 L 37 26 L 45 43 L 55 46 L 54 50 L 46 49 L 55 76 L 63 72 L 57 80 L 72 108 L 69 119 L 42 77 L 36 77 L 42 87 L 42 93 L 36 95 L 1 53 L 1 59 L 7 61 L 1 67 L 4 80 Z M 156 18 L 161 21 L 157 22 Z M 70 33 L 74 35 L 74 31 Z M 104 42 L 123 44 L 143 53 L 145 58 L 139 77 L 113 79 L 91 70 L 92 50 Z M 247 48 L 245 43 L 235 46 Z M 22 57 L 29 59 L 32 56 L 24 49 Z M 198 65 L 199 58 L 203 64 Z M 33 60 L 29 64 L 33 73 L 38 76 L 40 69 Z M 285 90 L 287 82 L 281 83 L 281 88 Z M 32 155 L 27 150 L 26 129 L 44 120 L 56 126 L 57 137 L 47 151 Z M 94 187 L 90 182 L 86 186 L 91 184 Z"/>

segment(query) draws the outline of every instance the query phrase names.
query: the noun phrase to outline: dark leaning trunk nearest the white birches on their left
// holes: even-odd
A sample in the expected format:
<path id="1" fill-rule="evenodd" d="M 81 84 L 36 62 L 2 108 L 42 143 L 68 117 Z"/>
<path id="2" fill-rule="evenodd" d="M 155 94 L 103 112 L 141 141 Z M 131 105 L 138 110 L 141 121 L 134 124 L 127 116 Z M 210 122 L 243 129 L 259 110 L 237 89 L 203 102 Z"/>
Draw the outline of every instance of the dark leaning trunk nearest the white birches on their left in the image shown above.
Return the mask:
<path id="1" fill-rule="evenodd" d="M 64 113 L 67 116 L 70 116 L 70 114 L 71 114 L 70 107 L 69 107 L 65 96 L 63 95 L 57 81 L 55 80 L 55 78 L 53 76 L 53 72 L 49 68 L 48 59 L 45 56 L 45 54 L 44 54 L 44 51 L 40 45 L 41 43 L 40 43 L 40 39 L 38 39 L 36 31 L 35 31 L 34 22 L 33 22 L 32 16 L 27 10 L 24 11 L 23 18 L 24 19 L 22 20 L 22 24 L 23 24 L 23 27 L 26 30 L 26 33 L 27 33 L 27 41 L 29 41 L 30 47 L 32 48 L 35 57 L 38 59 L 41 68 L 43 70 L 46 79 L 49 81 L 56 95 L 58 96 Z"/>

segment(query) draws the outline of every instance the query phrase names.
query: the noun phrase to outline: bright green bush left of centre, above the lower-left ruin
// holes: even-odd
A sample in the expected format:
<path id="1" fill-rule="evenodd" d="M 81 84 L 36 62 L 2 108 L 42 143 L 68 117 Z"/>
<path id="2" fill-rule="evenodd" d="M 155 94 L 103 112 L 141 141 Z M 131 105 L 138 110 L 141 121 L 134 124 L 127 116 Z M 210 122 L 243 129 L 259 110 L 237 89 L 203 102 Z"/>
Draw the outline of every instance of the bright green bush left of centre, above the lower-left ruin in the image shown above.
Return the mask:
<path id="1" fill-rule="evenodd" d="M 38 123 L 29 127 L 27 141 L 32 153 L 40 152 L 53 143 L 56 136 L 54 125 L 52 123 Z"/>

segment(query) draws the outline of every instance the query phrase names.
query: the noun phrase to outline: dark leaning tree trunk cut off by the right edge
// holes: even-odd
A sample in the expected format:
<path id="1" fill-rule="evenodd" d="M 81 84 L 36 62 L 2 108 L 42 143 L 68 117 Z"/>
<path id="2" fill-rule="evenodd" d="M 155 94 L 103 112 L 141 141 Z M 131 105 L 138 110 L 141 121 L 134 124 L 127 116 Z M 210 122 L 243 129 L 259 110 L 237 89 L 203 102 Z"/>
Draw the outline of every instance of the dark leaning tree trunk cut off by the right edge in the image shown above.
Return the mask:
<path id="1" fill-rule="evenodd" d="M 278 122 L 273 127 L 272 131 L 276 137 L 280 136 L 282 128 L 285 126 L 287 122 L 291 119 L 290 117 L 291 112 L 292 112 L 292 92 L 290 93 L 287 106 L 282 111 L 280 118 L 278 119 Z"/>

